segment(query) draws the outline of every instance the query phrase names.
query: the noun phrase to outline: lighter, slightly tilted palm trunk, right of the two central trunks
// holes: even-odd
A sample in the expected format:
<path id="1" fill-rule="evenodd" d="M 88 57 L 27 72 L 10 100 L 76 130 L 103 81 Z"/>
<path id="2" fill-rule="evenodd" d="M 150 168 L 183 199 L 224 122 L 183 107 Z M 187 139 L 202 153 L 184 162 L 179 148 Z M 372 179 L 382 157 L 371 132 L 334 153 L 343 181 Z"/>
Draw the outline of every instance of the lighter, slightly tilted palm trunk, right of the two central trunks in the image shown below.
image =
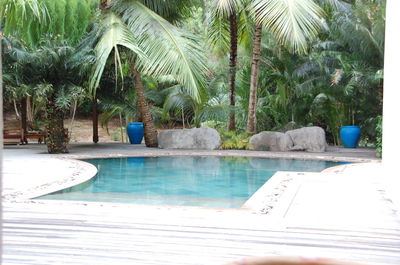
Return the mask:
<path id="1" fill-rule="evenodd" d="M 261 36 L 262 26 L 256 24 L 253 41 L 253 59 L 251 62 L 249 112 L 247 115 L 246 128 L 248 134 L 254 134 L 256 132 L 257 87 L 258 74 L 260 71 Z"/>

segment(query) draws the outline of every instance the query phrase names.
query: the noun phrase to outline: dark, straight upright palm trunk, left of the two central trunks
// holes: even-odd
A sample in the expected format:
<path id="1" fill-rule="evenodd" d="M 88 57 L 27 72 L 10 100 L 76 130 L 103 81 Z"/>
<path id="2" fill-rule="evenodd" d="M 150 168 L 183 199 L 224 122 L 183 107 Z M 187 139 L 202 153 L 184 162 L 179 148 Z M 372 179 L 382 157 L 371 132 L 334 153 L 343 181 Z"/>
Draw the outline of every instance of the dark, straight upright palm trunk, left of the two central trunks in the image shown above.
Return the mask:
<path id="1" fill-rule="evenodd" d="M 237 64 L 237 16 L 236 12 L 232 12 L 229 16 L 230 23 L 230 35 L 231 35 L 231 50 L 230 50 L 230 61 L 229 61 L 229 97 L 230 106 L 232 109 L 229 113 L 228 130 L 236 130 L 235 122 L 235 83 L 236 83 L 236 64 Z"/>

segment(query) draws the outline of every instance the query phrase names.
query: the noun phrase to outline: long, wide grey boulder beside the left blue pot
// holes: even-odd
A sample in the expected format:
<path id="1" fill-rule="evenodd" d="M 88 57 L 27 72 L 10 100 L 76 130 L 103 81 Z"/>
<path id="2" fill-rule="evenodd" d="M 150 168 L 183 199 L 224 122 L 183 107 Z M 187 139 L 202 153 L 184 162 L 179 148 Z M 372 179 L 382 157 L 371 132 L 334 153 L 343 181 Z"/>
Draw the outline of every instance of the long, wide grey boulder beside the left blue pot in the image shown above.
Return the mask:
<path id="1" fill-rule="evenodd" d="M 165 130 L 158 133 L 158 147 L 162 149 L 214 150 L 221 145 L 219 133 L 212 128 Z"/>

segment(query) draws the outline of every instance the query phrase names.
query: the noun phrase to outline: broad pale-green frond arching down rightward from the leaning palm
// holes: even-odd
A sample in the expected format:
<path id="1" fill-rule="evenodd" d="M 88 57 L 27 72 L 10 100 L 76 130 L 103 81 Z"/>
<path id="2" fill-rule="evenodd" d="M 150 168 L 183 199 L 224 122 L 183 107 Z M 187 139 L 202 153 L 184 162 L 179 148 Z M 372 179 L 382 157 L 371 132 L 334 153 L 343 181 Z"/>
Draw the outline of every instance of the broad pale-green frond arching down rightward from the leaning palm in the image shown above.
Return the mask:
<path id="1" fill-rule="evenodd" d="M 146 60 L 137 62 L 141 72 L 155 77 L 171 74 L 199 100 L 207 69 L 200 39 L 168 23 L 139 1 L 117 0 L 112 9 L 122 16 L 147 55 Z"/>

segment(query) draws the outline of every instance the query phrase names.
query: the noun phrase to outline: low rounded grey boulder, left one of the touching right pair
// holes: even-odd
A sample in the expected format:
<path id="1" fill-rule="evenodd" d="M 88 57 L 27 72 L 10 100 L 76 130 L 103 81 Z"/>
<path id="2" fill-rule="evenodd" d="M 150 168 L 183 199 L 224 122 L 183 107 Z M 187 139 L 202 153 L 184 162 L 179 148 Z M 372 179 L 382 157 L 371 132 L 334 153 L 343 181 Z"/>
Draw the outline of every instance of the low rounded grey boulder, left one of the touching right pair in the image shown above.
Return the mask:
<path id="1" fill-rule="evenodd" d="M 289 135 L 281 132 L 261 132 L 250 138 L 254 150 L 289 151 L 293 142 Z"/>

